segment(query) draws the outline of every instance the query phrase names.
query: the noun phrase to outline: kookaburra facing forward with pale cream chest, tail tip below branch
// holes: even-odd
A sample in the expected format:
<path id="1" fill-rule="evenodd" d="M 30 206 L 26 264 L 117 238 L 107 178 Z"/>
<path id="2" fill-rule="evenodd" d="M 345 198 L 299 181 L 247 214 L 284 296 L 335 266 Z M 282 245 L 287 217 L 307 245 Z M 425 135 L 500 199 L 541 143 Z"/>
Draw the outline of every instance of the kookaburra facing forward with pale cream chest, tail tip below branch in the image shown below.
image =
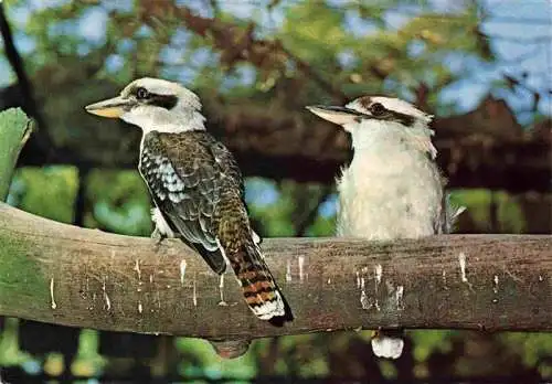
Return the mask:
<path id="1" fill-rule="evenodd" d="M 450 232 L 464 207 L 452 207 L 444 193 L 432 116 L 382 96 L 307 109 L 351 134 L 353 159 L 337 180 L 338 236 L 393 241 Z M 373 338 L 372 349 L 378 356 L 397 359 L 404 342 L 386 334 L 392 333 Z"/>

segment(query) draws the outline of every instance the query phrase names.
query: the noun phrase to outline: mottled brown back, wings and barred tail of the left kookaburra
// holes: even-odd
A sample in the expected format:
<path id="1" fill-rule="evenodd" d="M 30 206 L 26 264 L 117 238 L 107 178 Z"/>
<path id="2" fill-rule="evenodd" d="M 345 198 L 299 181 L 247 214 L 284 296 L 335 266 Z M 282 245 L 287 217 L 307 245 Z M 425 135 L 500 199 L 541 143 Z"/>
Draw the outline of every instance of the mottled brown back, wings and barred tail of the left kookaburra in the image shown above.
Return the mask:
<path id="1" fill-rule="evenodd" d="M 219 274 L 227 258 L 258 318 L 284 316 L 280 294 L 254 242 L 241 172 L 230 151 L 205 131 L 151 131 L 144 138 L 139 168 L 173 232 Z"/>

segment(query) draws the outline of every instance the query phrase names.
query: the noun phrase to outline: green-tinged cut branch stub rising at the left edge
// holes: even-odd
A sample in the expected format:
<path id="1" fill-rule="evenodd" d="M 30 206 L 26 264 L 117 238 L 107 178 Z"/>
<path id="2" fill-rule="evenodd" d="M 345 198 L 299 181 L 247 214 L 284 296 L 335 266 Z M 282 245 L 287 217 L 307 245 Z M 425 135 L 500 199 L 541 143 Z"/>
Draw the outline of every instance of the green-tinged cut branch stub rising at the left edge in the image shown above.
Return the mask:
<path id="1" fill-rule="evenodd" d="M 0 201 L 8 195 L 19 152 L 30 135 L 30 120 L 21 109 L 0 113 Z"/>

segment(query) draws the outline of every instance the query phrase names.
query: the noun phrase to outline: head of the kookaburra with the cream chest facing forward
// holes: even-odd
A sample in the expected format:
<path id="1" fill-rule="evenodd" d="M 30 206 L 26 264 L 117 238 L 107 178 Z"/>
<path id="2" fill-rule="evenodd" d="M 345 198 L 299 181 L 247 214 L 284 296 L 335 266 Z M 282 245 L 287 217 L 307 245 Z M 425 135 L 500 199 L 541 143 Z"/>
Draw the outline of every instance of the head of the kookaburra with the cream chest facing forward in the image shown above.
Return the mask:
<path id="1" fill-rule="evenodd" d="M 404 142 L 435 158 L 429 128 L 433 116 L 399 98 L 362 96 L 344 107 L 308 106 L 312 114 L 343 127 L 355 149 Z"/>

